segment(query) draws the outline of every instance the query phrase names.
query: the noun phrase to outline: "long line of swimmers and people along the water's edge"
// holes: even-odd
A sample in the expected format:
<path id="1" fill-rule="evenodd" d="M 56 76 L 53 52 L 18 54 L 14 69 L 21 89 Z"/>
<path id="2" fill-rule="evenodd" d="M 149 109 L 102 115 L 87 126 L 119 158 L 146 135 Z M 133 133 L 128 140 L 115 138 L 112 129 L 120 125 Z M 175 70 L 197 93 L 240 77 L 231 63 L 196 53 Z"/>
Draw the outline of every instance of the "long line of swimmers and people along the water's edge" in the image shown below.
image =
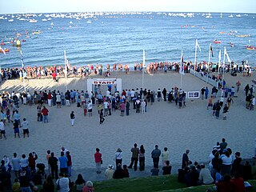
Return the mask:
<path id="1" fill-rule="evenodd" d="M 218 63 L 212 63 L 208 65 L 206 62 L 198 62 L 197 65 L 194 65 L 192 62 L 184 62 L 184 71 L 185 73 L 189 73 L 190 69 L 196 70 L 200 72 L 202 75 L 206 75 L 209 78 L 213 78 L 214 80 L 219 81 L 222 80 L 222 74 L 219 74 L 216 77 L 213 73 L 221 70 L 225 71 L 226 73 L 234 74 L 235 73 L 242 73 L 244 76 L 251 76 L 252 67 L 248 66 L 245 62 L 242 64 L 237 64 L 231 62 L 226 64 L 223 68 Z M 125 72 L 128 74 L 130 68 L 133 67 L 134 71 L 142 71 L 143 63 L 134 63 L 132 64 L 113 64 L 112 67 L 110 64 L 106 64 L 106 67 L 102 66 L 102 64 L 88 64 L 86 66 L 71 66 L 68 63 L 65 66 L 25 66 L 25 67 L 11 67 L 11 68 L 3 68 L 0 71 L 0 80 L 8 80 L 12 78 L 54 78 L 54 81 L 57 81 L 57 78 L 72 76 L 72 77 L 86 77 L 90 74 L 104 74 L 105 77 L 110 77 L 110 71 L 115 72 Z M 147 73 L 154 74 L 158 71 L 163 71 L 164 73 L 167 70 L 171 71 L 179 71 L 180 62 L 150 62 L 148 63 L 145 68 Z"/>

